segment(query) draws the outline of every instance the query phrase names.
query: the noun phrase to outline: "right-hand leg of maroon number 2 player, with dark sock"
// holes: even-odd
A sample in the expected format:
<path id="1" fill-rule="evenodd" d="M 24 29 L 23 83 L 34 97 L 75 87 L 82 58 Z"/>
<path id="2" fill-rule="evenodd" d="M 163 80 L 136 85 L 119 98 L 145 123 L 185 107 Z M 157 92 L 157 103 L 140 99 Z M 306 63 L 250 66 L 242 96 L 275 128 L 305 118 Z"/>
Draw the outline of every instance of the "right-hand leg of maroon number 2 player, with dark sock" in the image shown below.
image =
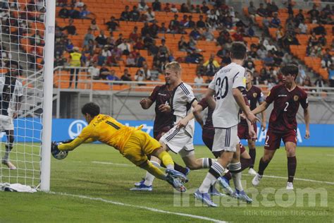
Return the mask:
<path id="1" fill-rule="evenodd" d="M 297 169 L 296 143 L 286 142 L 285 150 L 287 152 L 287 189 L 293 189 L 293 179 Z"/>

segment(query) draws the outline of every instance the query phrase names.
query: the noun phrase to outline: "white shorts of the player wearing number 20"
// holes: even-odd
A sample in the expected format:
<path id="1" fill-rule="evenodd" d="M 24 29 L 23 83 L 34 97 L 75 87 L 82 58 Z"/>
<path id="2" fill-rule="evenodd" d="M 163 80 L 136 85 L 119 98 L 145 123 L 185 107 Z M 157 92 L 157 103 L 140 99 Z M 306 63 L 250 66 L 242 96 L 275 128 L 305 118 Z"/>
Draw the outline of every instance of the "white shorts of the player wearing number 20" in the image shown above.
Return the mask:
<path id="1" fill-rule="evenodd" d="M 212 146 L 212 152 L 236 152 L 236 146 L 239 142 L 240 139 L 237 136 L 237 126 L 233 126 L 230 128 L 215 128 L 214 145 Z"/>

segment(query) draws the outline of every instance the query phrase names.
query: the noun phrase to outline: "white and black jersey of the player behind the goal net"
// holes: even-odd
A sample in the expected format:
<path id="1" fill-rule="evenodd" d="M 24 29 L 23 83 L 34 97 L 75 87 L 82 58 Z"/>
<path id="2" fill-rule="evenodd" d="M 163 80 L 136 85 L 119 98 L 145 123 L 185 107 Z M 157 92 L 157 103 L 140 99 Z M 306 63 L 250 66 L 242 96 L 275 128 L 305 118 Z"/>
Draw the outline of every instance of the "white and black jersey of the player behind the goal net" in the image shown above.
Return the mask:
<path id="1" fill-rule="evenodd" d="M 12 116 L 13 112 L 16 110 L 16 102 L 18 100 L 18 97 L 23 96 L 23 85 L 22 83 L 20 83 L 18 79 L 16 79 L 15 86 L 10 87 L 11 99 L 9 100 L 9 104 L 7 104 L 3 99 L 5 83 L 6 83 L 5 73 L 0 73 L 0 103 L 1 103 L 0 109 L 2 110 L 0 111 L 0 114 L 1 112 L 6 113 L 7 111 L 8 114 L 4 115 Z"/>

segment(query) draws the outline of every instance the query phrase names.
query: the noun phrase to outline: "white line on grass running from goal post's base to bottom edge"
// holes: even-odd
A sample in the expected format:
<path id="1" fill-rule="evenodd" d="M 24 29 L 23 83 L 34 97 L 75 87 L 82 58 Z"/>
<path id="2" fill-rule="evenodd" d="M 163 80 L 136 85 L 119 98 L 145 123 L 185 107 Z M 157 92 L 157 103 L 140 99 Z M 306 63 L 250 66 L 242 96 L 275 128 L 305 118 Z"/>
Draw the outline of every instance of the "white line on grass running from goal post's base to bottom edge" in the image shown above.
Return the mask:
<path id="1" fill-rule="evenodd" d="M 209 222 L 225 223 L 225 221 L 221 221 L 221 220 L 213 219 L 213 218 L 209 218 L 209 217 L 204 217 L 204 216 L 199 216 L 199 215 L 190 215 L 190 214 L 185 214 L 185 213 L 182 213 L 182 212 L 169 212 L 169 211 L 166 211 L 166 210 L 160 210 L 160 209 L 156 209 L 156 208 L 153 208 L 153 207 L 145 207 L 145 206 L 141 206 L 141 205 L 130 205 L 130 204 L 127 204 L 127 203 L 120 203 L 120 202 L 116 202 L 116 201 L 113 201 L 113 200 L 106 200 L 104 198 L 94 198 L 94 197 L 89 197 L 89 196 L 86 196 L 86 195 L 76 195 L 76 194 L 60 193 L 60 192 L 49 192 L 49 193 L 56 194 L 56 195 L 63 195 L 63 196 L 72 197 L 72 198 L 95 200 L 95 201 L 100 201 L 100 202 L 103 202 L 103 203 L 109 203 L 109 204 L 113 204 L 113 205 L 120 205 L 120 206 L 124 206 L 124 207 L 134 207 L 134 208 L 138 208 L 138 209 L 149 210 L 151 212 L 159 212 L 159 213 L 163 213 L 163 214 L 167 214 L 167 215 L 179 215 L 179 216 L 183 216 L 183 217 L 201 219 L 201 220 L 205 220 L 205 221 L 209 221 Z"/>

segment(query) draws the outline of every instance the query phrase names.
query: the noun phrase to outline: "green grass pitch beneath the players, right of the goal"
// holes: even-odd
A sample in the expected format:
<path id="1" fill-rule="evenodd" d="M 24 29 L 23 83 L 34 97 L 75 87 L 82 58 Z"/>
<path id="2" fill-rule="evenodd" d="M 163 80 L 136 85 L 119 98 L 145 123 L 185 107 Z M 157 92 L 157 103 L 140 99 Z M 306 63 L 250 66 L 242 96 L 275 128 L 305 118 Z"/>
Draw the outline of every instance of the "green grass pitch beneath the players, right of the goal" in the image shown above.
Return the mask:
<path id="1" fill-rule="evenodd" d="M 263 147 L 256 149 L 255 169 Z M 211 157 L 203 146 L 195 152 L 197 157 Z M 178 155 L 173 158 L 183 164 Z M 271 177 L 264 177 L 258 187 L 252 186 L 247 171 L 243 173 L 253 205 L 223 197 L 214 198 L 219 207 L 209 208 L 192 196 L 207 170 L 191 171 L 182 196 L 159 180 L 152 192 L 132 192 L 144 170 L 112 147 L 82 145 L 66 159 L 51 158 L 53 193 L 0 192 L 0 222 L 333 222 L 333 161 L 333 148 L 298 147 L 295 191 L 286 193 L 287 159 L 281 148 L 266 169 Z"/>

